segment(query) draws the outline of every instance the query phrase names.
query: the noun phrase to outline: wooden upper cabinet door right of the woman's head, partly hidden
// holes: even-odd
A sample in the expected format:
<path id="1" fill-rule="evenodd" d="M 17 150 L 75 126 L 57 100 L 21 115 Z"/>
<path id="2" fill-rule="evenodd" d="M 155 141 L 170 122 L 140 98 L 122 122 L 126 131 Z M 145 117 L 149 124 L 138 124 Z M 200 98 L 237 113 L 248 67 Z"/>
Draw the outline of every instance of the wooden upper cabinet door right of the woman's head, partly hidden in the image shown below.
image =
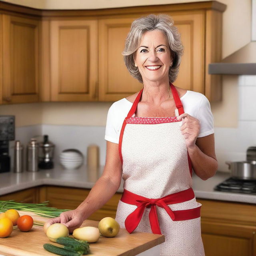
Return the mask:
<path id="1" fill-rule="evenodd" d="M 204 94 L 204 12 L 169 13 L 184 46 L 175 86 Z"/>

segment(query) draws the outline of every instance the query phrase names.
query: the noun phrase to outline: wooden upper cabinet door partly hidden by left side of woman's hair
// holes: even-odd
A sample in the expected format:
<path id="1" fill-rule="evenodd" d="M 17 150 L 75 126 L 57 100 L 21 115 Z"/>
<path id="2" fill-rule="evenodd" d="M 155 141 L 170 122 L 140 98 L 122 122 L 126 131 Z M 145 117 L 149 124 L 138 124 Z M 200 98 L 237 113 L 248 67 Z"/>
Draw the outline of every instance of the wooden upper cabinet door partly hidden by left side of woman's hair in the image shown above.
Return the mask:
<path id="1" fill-rule="evenodd" d="M 134 94 L 143 85 L 128 72 L 124 58 L 125 38 L 134 18 L 99 20 L 99 100 L 116 101 Z"/>

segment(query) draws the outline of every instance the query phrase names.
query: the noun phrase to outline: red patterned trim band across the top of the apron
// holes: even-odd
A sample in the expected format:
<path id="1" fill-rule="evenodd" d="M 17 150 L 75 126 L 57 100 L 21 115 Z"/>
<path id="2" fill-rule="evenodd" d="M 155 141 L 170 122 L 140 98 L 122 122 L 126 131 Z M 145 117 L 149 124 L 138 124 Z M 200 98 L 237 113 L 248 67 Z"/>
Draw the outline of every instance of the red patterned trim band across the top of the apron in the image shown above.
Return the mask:
<path id="1" fill-rule="evenodd" d="M 179 122 L 177 116 L 169 117 L 130 117 L 126 119 L 126 124 L 164 124 Z"/>

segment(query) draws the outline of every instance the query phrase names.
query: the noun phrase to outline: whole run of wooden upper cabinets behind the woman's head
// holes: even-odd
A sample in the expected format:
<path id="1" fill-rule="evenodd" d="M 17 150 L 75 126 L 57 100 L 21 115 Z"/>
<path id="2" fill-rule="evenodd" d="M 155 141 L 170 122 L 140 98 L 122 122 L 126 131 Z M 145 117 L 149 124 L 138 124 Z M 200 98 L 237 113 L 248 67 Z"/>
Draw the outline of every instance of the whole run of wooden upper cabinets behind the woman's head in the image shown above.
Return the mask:
<path id="1" fill-rule="evenodd" d="M 10 12 L 10 6 L 2 4 L 0 11 Z M 174 85 L 221 100 L 221 76 L 208 74 L 208 64 L 221 60 L 225 8 L 209 1 L 104 10 L 15 9 L 28 12 L 28 18 L 0 12 L 2 103 L 116 101 L 138 92 L 143 85 L 129 74 L 122 51 L 133 20 L 152 13 L 172 16 L 181 34 L 184 55 Z"/>

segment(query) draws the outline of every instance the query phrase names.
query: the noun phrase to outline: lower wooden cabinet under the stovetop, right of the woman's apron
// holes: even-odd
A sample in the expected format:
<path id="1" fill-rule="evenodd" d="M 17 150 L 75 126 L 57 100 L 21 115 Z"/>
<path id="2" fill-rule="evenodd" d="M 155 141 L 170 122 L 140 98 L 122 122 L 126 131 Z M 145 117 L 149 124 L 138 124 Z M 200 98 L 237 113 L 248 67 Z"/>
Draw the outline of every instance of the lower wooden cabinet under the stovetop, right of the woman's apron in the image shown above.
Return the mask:
<path id="1" fill-rule="evenodd" d="M 256 255 L 256 205 L 197 199 L 206 256 Z"/>

